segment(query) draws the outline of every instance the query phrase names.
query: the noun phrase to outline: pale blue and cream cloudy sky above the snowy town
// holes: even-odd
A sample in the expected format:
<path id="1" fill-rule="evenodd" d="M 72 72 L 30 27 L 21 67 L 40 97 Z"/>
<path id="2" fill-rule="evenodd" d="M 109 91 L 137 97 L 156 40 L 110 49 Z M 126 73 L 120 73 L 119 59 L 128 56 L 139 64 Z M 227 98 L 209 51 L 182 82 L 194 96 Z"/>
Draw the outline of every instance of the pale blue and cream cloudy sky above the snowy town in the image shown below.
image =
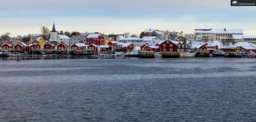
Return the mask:
<path id="1" fill-rule="evenodd" d="M 194 29 L 243 29 L 256 34 L 256 7 L 231 7 L 230 0 L 8 0 L 0 4 L 0 34 L 57 30 L 104 34 L 145 29 L 194 33 Z"/>

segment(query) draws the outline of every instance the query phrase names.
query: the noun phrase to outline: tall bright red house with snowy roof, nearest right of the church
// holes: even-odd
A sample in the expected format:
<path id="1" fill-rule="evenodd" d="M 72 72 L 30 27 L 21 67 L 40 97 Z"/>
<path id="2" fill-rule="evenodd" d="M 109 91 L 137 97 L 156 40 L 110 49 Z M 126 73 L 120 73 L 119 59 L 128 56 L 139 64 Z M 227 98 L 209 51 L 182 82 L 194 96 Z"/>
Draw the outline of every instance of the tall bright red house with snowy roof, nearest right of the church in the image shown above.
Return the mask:
<path id="1" fill-rule="evenodd" d="M 103 34 L 88 34 L 86 37 L 87 45 L 104 45 L 105 39 Z"/>

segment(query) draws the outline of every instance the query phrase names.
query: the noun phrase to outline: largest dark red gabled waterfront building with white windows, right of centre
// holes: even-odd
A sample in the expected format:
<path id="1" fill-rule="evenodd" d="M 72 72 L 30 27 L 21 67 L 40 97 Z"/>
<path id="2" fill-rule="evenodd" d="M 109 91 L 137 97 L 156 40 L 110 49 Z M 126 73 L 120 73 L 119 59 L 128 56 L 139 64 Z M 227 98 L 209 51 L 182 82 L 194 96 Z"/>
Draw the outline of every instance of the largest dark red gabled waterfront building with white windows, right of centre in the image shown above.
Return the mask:
<path id="1" fill-rule="evenodd" d="M 159 46 L 159 51 L 165 52 L 179 52 L 179 49 L 182 49 L 184 46 L 176 40 L 163 40 L 160 41 L 157 45 Z"/>

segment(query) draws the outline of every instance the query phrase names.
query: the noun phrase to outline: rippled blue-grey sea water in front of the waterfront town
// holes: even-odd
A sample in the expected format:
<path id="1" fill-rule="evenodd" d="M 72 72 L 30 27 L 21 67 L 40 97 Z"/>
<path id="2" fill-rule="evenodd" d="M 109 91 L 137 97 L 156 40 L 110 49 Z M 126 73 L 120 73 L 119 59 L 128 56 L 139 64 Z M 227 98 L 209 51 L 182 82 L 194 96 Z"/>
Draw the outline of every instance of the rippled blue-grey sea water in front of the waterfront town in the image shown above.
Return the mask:
<path id="1" fill-rule="evenodd" d="M 0 61 L 0 121 L 255 121 L 256 60 Z"/>

